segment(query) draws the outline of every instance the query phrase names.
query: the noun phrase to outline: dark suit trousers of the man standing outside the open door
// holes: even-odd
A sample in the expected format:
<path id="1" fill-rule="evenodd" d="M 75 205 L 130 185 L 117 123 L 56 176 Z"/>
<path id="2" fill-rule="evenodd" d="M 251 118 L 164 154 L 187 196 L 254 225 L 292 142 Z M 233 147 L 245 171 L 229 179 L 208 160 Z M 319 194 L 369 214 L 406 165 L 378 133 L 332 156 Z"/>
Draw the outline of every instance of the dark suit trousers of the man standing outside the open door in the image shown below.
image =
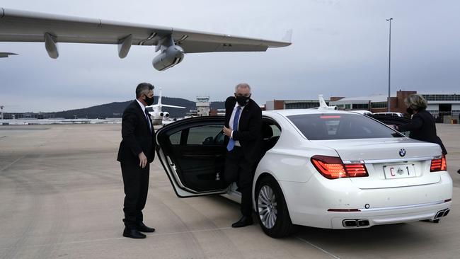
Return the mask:
<path id="1" fill-rule="evenodd" d="M 120 163 L 123 175 L 123 185 L 125 186 L 125 202 L 123 212 L 125 212 L 125 226 L 135 229 L 144 220 L 142 209 L 145 207 L 147 192 L 149 190 L 150 165 L 147 163 L 145 168 L 139 164 Z"/>

